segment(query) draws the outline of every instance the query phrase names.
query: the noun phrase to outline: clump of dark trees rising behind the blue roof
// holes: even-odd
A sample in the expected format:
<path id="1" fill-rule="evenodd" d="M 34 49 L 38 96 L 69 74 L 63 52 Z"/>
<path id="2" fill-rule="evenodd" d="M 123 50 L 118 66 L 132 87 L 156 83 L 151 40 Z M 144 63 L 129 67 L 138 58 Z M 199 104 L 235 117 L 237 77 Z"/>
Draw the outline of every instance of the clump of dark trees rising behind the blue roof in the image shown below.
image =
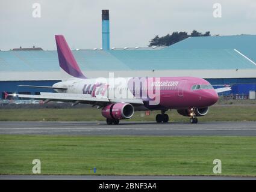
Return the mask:
<path id="1" fill-rule="evenodd" d="M 181 32 L 175 31 L 171 35 L 167 34 L 163 37 L 159 37 L 158 35 L 156 35 L 154 38 L 152 38 L 151 41 L 149 41 L 150 43 L 149 46 L 170 46 L 188 37 L 201 37 L 201 36 L 210 36 L 210 31 L 205 32 L 205 34 L 202 34 L 201 32 L 193 30 L 190 35 L 188 35 L 187 32 L 182 32 L 182 31 Z"/>

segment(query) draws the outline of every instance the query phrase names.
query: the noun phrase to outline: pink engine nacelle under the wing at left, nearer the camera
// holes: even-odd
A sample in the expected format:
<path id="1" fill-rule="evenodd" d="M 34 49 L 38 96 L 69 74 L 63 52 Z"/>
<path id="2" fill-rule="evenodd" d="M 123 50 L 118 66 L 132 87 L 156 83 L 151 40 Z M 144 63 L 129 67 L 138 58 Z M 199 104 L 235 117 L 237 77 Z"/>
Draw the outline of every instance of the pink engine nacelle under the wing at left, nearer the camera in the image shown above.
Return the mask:
<path id="1" fill-rule="evenodd" d="M 129 103 L 114 103 L 105 106 L 101 112 L 107 119 L 130 119 L 134 114 L 134 107 Z"/>

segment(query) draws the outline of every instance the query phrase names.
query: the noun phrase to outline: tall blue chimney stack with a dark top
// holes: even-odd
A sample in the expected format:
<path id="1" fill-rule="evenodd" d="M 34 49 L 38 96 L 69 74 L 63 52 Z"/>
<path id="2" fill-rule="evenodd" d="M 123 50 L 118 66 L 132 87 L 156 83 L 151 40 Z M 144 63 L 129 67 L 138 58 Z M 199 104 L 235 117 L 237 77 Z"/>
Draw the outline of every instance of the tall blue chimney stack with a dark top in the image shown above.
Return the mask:
<path id="1" fill-rule="evenodd" d="M 102 49 L 110 49 L 110 16 L 109 10 L 102 10 Z"/>

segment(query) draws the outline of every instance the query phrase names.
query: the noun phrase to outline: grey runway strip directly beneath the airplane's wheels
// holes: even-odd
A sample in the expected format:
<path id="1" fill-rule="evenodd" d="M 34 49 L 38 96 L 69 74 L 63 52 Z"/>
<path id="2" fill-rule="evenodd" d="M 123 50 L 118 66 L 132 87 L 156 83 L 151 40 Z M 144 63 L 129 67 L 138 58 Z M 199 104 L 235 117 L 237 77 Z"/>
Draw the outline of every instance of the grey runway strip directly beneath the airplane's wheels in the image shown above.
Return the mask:
<path id="1" fill-rule="evenodd" d="M 0 134 L 256 136 L 256 122 L 0 122 Z"/>

